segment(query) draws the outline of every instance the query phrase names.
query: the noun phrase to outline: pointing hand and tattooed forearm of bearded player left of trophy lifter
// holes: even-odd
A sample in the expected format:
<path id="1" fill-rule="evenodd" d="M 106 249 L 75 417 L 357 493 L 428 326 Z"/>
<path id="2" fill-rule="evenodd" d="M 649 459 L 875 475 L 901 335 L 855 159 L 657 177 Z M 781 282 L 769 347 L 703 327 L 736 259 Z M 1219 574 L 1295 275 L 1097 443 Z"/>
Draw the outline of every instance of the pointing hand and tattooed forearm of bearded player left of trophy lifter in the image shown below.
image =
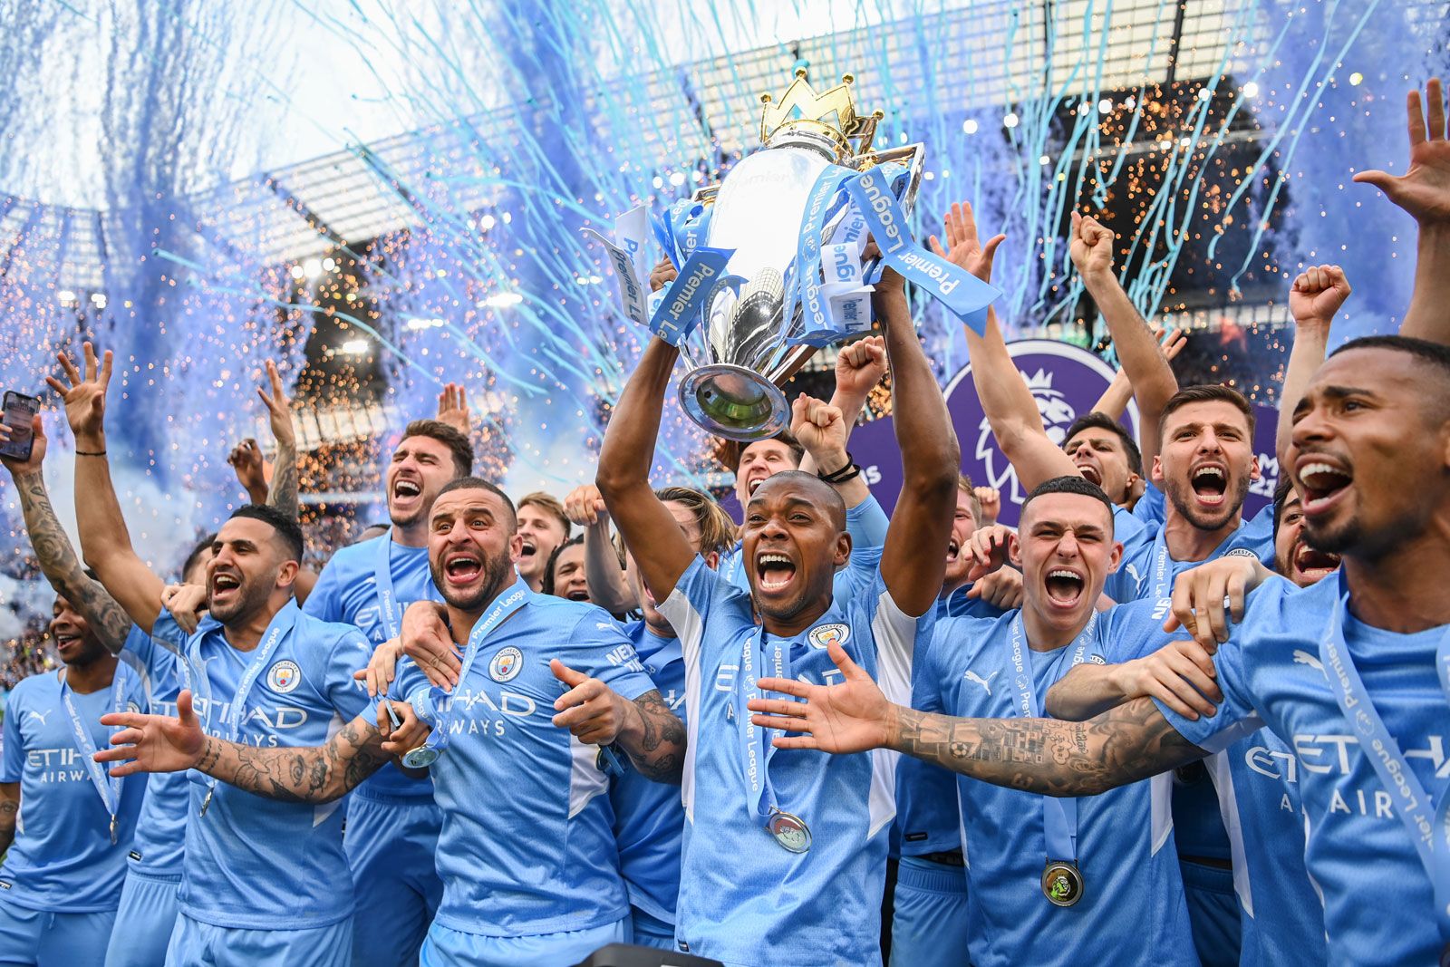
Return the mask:
<path id="1" fill-rule="evenodd" d="M 647 779 L 679 783 L 684 771 L 684 723 L 670 710 L 658 689 L 634 702 L 599 678 L 590 678 L 555 658 L 554 677 L 570 686 L 554 707 L 554 725 L 567 728 L 580 742 L 616 745 Z"/>

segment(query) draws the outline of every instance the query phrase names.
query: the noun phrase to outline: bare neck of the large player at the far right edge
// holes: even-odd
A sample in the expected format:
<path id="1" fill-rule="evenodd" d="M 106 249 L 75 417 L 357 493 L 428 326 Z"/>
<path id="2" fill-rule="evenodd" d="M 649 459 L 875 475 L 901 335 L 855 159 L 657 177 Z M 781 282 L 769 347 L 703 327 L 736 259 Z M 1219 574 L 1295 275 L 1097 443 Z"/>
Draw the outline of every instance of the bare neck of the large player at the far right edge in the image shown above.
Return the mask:
<path id="1" fill-rule="evenodd" d="M 1431 519 L 1415 538 L 1379 560 L 1344 555 L 1350 610 L 1373 628 L 1412 635 L 1450 625 L 1450 515 Z M 1324 578 L 1333 580 L 1333 577 Z"/>

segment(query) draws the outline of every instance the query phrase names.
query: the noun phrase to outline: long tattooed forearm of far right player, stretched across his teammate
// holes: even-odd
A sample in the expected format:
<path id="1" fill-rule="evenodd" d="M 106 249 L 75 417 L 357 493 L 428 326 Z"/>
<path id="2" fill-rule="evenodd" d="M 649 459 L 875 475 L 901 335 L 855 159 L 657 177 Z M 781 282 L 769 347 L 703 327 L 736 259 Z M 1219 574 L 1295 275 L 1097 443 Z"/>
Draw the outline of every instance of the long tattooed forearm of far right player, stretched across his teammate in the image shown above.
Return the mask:
<path id="1" fill-rule="evenodd" d="M 1095 796 L 1206 755 L 1167 723 L 1151 699 L 1088 722 L 957 719 L 902 709 L 892 748 L 1048 796 Z"/>

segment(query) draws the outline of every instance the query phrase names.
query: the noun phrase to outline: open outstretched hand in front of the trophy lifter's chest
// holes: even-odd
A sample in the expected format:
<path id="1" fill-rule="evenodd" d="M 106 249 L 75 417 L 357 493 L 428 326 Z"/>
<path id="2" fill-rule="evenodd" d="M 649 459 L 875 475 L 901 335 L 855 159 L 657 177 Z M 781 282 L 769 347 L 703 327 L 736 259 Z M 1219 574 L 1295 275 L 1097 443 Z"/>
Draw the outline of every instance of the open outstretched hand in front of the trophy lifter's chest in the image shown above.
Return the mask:
<path id="1" fill-rule="evenodd" d="M 751 723 L 792 732 L 773 739 L 776 748 L 813 748 L 822 752 L 864 752 L 882 748 L 890 739 L 896 706 L 886 700 L 871 676 L 851 661 L 840 642 L 826 645 L 826 654 L 844 680 L 832 686 L 806 684 L 798 678 L 761 678 L 761 692 L 789 694 L 790 699 L 751 699 Z"/>

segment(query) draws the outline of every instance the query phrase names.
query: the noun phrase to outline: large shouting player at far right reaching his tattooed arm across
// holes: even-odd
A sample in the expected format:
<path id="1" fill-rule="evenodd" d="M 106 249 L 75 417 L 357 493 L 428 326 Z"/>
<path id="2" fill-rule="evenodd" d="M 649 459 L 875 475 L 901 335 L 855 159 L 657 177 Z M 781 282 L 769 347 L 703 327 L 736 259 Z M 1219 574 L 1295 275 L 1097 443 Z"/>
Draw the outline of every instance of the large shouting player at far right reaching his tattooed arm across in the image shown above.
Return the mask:
<path id="1" fill-rule="evenodd" d="M 1293 407 L 1290 473 L 1308 539 L 1340 554 L 1341 567 L 1305 589 L 1266 581 L 1247 600 L 1243 584 L 1176 594 L 1174 619 L 1209 647 L 1221 625 L 1201 619 L 1231 599 L 1232 635 L 1217 647 L 1212 683 L 1198 686 L 1222 694 L 1214 715 L 1192 718 L 1150 697 L 1086 722 L 924 713 L 892 706 L 837 651 L 844 684 L 763 681 L 805 702 L 755 703 L 767 713 L 757 723 L 803 732 L 780 739 L 786 748 L 895 748 L 1057 797 L 1138 781 L 1267 726 L 1305 765 L 1296 771 L 1305 860 L 1322 896 L 1328 963 L 1443 964 L 1450 779 L 1434 750 L 1450 722 L 1447 400 L 1450 348 L 1424 339 L 1356 339 L 1315 374 Z"/>

